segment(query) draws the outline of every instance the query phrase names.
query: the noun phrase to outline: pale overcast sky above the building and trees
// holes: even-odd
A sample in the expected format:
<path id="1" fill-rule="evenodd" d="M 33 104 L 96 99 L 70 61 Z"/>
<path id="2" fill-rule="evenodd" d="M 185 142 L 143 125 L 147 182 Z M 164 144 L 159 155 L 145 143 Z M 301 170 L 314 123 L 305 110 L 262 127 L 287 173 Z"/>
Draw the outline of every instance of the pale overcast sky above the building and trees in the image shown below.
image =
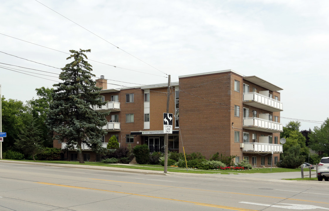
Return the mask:
<path id="1" fill-rule="evenodd" d="M 313 129 L 329 117 L 327 0 L 0 0 L 0 24 L 0 67 L 19 69 L 0 68 L 6 99 L 51 88 L 81 48 L 91 49 L 93 74 L 115 80 L 108 88 L 233 69 L 284 89 L 284 126 Z"/>

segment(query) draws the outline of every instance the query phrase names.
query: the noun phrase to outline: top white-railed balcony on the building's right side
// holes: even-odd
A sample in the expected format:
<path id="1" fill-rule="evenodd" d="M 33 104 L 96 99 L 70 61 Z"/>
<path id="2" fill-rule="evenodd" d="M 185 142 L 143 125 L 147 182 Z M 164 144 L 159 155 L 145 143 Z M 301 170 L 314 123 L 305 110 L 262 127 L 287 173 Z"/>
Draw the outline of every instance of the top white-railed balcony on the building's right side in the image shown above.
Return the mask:
<path id="1" fill-rule="evenodd" d="M 283 111 L 283 105 L 280 101 L 266 97 L 257 92 L 243 93 L 242 103 L 271 112 Z"/>

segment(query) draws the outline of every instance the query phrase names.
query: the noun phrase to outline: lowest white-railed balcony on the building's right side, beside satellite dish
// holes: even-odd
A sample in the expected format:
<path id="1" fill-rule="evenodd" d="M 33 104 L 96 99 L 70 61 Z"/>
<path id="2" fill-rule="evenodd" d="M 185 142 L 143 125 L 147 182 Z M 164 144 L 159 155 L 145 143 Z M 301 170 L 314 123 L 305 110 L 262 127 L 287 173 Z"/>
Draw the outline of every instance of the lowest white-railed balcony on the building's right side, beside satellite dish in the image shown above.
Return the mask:
<path id="1" fill-rule="evenodd" d="M 266 143 L 240 143 L 243 153 L 283 153 L 281 144 L 266 144 Z"/>

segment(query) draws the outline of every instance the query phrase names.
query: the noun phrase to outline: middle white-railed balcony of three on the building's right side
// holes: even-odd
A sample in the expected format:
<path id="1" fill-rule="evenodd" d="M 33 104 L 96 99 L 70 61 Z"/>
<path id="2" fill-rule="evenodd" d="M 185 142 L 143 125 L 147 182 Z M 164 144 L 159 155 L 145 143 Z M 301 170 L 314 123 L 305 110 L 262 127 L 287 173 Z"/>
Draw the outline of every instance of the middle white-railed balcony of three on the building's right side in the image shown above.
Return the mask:
<path id="1" fill-rule="evenodd" d="M 283 132 L 283 125 L 281 123 L 256 117 L 243 118 L 242 128 L 270 133 Z"/>

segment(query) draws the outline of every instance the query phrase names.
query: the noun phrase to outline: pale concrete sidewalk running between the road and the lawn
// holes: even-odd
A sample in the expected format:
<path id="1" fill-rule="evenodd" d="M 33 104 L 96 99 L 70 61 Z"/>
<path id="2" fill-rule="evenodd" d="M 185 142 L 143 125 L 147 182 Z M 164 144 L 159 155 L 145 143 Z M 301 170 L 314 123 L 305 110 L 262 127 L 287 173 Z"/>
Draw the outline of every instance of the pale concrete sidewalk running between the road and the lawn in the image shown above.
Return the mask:
<path id="1" fill-rule="evenodd" d="M 76 164 L 59 164 L 59 163 L 41 163 L 41 162 L 26 162 L 26 161 L 12 161 L 12 160 L 0 160 L 0 163 L 16 163 L 26 165 L 41 165 L 41 166 L 56 166 L 63 168 L 78 168 L 78 169 L 92 169 L 92 170 L 103 170 L 113 172 L 126 172 L 135 174 L 149 174 L 149 175 L 164 175 L 164 176 L 193 176 L 193 177 L 209 177 L 209 178 L 233 178 L 233 179 L 244 179 L 244 180 L 258 180 L 258 181 L 280 181 L 280 182 L 297 182 L 296 180 L 282 180 L 283 178 L 300 178 L 300 172 L 283 172 L 283 173 L 254 173 L 254 174 L 194 174 L 194 173 L 180 173 L 180 172 L 168 172 L 164 173 L 163 170 L 152 171 L 143 169 L 126 169 L 117 167 L 106 167 L 106 166 L 89 166 L 89 165 L 76 165 Z M 120 164 L 122 165 L 122 164 Z M 131 164 L 124 164 L 131 165 Z M 136 165 L 134 165 L 136 166 Z M 314 176 L 313 176 L 314 177 Z M 318 181 L 303 181 L 303 182 L 317 182 Z M 329 185 L 329 183 L 327 183 Z"/>

